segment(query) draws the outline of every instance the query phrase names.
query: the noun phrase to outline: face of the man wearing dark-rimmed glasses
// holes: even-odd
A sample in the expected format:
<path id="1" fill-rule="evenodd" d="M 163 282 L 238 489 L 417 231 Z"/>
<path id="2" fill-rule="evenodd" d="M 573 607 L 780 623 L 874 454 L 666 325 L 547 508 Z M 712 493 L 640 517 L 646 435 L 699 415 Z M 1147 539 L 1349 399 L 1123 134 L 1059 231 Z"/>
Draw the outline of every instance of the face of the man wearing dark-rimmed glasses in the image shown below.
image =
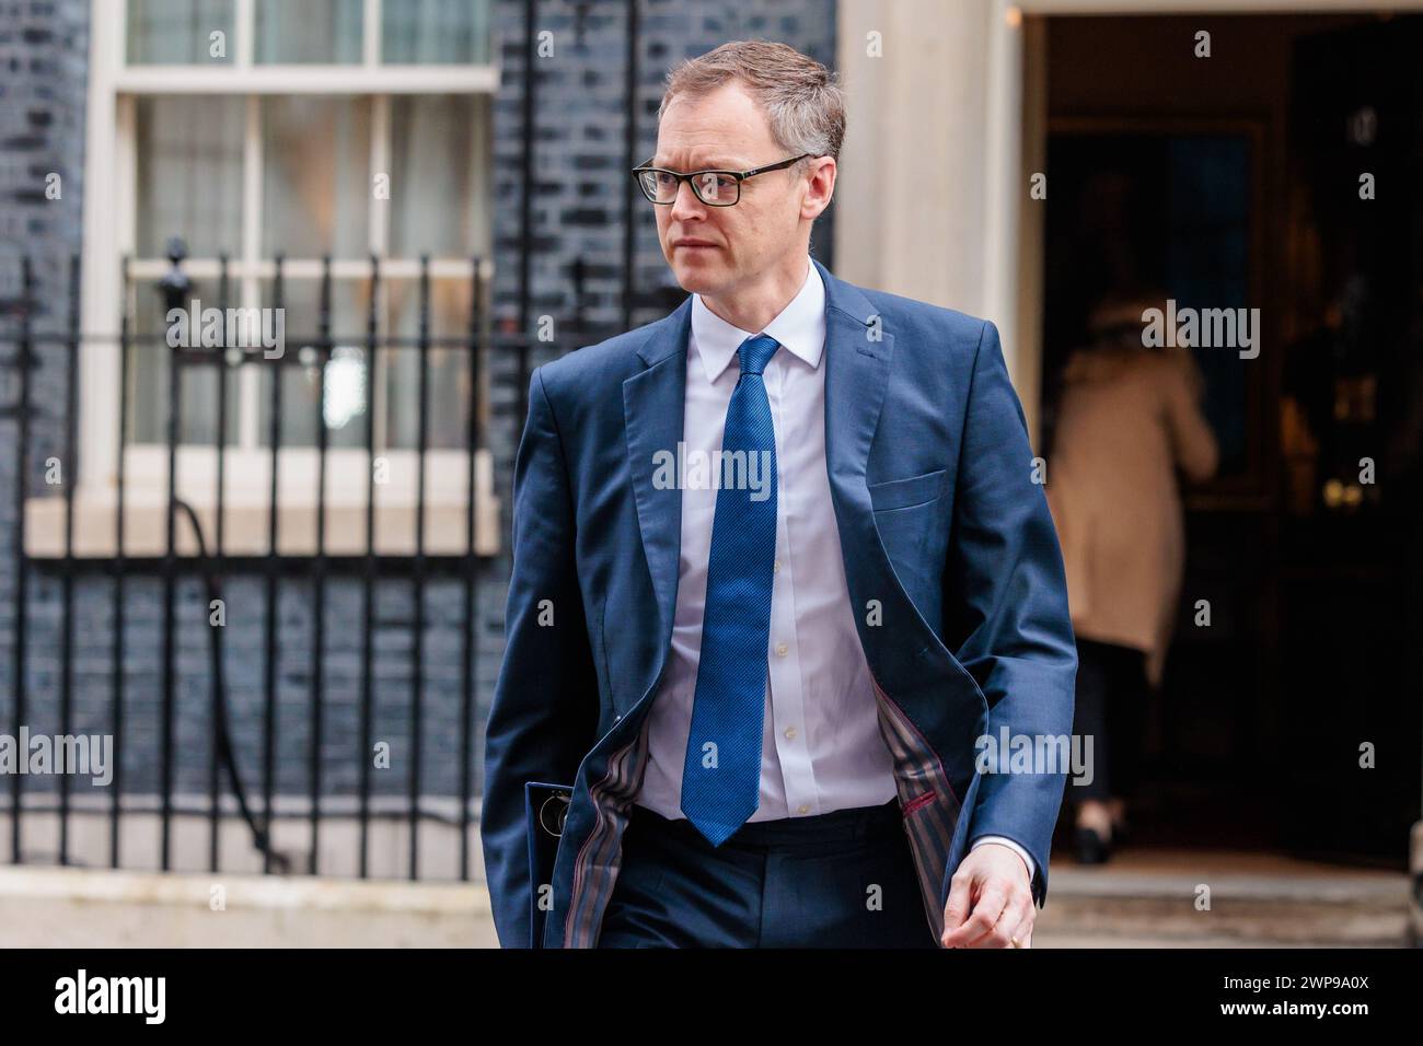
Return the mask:
<path id="1" fill-rule="evenodd" d="M 683 174 L 748 171 L 790 155 L 771 138 L 751 97 L 731 81 L 702 97 L 673 100 L 662 114 L 653 165 Z M 676 202 L 653 208 L 662 253 L 677 283 L 689 293 L 714 297 L 754 282 L 793 250 L 804 253 L 797 233 L 805 192 L 804 175 L 770 171 L 741 182 L 734 206 L 707 206 L 682 182 Z"/>

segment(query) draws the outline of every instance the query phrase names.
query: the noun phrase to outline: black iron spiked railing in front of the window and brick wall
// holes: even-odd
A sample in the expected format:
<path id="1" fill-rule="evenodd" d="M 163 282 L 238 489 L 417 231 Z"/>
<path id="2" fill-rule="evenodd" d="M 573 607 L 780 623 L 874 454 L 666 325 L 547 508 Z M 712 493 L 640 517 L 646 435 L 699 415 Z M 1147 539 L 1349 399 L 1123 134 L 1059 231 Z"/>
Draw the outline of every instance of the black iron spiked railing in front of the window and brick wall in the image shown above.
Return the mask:
<path id="1" fill-rule="evenodd" d="M 164 296 L 164 305 L 166 309 L 184 309 L 191 292 L 191 285 L 182 269 L 184 258 L 179 243 L 172 245 L 171 260 L 172 269 L 158 286 Z M 57 650 L 60 666 L 57 682 L 58 693 L 41 694 L 41 697 L 47 702 L 47 707 L 57 707 L 55 716 L 60 734 L 70 734 L 74 726 L 74 640 L 77 629 L 74 606 L 75 581 L 94 575 L 102 578 L 105 572 L 111 576 L 110 599 L 112 601 L 112 636 L 108 643 L 110 680 L 107 686 L 107 702 L 108 729 L 112 731 L 120 753 L 122 753 L 125 737 L 128 737 L 131 729 L 137 726 L 125 722 L 125 699 L 129 696 L 129 682 L 127 679 L 128 673 L 125 672 L 125 666 L 135 656 L 135 650 L 128 643 L 125 628 L 125 615 L 129 611 L 129 586 L 135 578 L 159 579 L 162 588 L 159 650 L 161 703 L 158 704 L 159 722 L 157 729 L 157 751 L 154 754 L 157 759 L 158 778 L 157 813 L 161 825 L 158 838 L 158 865 L 165 871 L 169 870 L 172 867 L 172 821 L 175 815 L 192 815 L 195 813 L 202 813 L 192 808 L 179 810 L 175 805 L 174 798 L 175 730 L 179 726 L 176 720 L 179 704 L 178 687 L 184 682 L 185 676 L 185 673 L 179 670 L 178 665 L 178 583 L 184 576 L 199 579 L 202 589 L 211 602 L 223 598 L 223 588 L 232 576 L 238 574 L 249 578 L 256 576 L 263 582 L 265 593 L 265 622 L 262 630 L 262 683 L 265 700 L 260 714 L 262 757 L 259 760 L 259 766 L 256 767 L 256 774 L 253 774 L 253 767 L 239 766 L 240 760 L 238 757 L 238 747 L 235 744 L 233 727 L 228 707 L 228 680 L 225 670 L 226 657 L 223 648 L 228 640 L 223 638 L 225 629 L 208 629 L 211 657 L 206 672 L 195 673 L 191 666 L 186 670 L 186 682 L 189 685 L 194 675 L 202 676 L 202 683 L 208 687 L 212 702 L 211 763 L 206 767 L 208 865 L 212 871 L 219 870 L 219 828 L 222 823 L 222 813 L 219 807 L 226 791 L 231 800 L 235 800 L 240 817 L 246 821 L 250 830 L 252 844 L 262 852 L 263 871 L 320 872 L 322 867 L 319 855 L 322 851 L 319 841 L 323 821 L 327 817 L 323 808 L 323 800 L 327 798 L 327 796 L 323 791 L 324 760 L 322 754 L 323 741 L 327 739 L 326 588 L 333 571 L 339 569 L 343 576 L 359 578 L 361 591 L 361 639 L 359 643 L 360 740 L 353 750 L 353 757 L 357 759 L 360 764 L 356 796 L 357 805 L 354 814 L 359 821 L 359 874 L 361 877 L 367 877 L 370 825 L 373 817 L 376 815 L 371 808 L 373 781 L 370 756 L 374 743 L 373 717 L 376 706 L 381 697 L 380 686 L 377 683 L 380 653 L 374 642 L 376 601 L 381 585 L 390 583 L 393 578 L 398 579 L 400 583 L 407 583 L 410 586 L 414 606 L 413 620 L 408 626 L 410 751 L 408 766 L 406 767 L 408 778 L 406 787 L 407 808 L 404 818 L 408 821 L 408 875 L 411 879 L 418 878 L 420 827 L 423 821 L 433 817 L 428 811 L 423 810 L 421 805 L 421 778 L 423 771 L 425 770 L 421 737 L 424 726 L 423 716 L 428 699 L 424 649 L 427 630 L 425 586 L 434 576 L 438 576 L 444 582 L 454 579 L 455 583 L 462 586 L 458 683 L 460 739 L 457 746 L 460 753 L 460 814 L 457 824 L 460 828 L 460 878 L 468 879 L 471 874 L 471 800 L 474 798 L 472 790 L 477 780 L 477 767 L 474 766 L 477 750 L 475 717 L 477 700 L 480 696 L 477 694 L 478 636 L 475 635 L 475 620 L 478 618 L 478 586 L 481 576 L 485 574 L 484 568 L 490 564 L 490 556 L 482 555 L 477 549 L 475 539 L 478 508 L 475 504 L 475 492 L 478 490 L 475 477 L 477 455 L 480 451 L 487 450 L 484 411 L 478 403 L 478 396 L 481 381 L 487 367 L 490 366 L 491 357 L 505 357 L 508 367 L 512 369 L 512 373 L 515 374 L 514 381 L 522 381 L 527 384 L 527 374 L 529 373 L 529 352 L 532 347 L 531 342 L 525 337 L 517 334 L 494 334 L 487 330 L 488 324 L 484 322 L 487 315 L 487 286 L 482 276 L 481 259 L 471 259 L 470 263 L 470 312 L 465 332 L 458 337 L 435 337 L 431 334 L 430 260 L 421 259 L 418 268 L 418 323 L 417 333 L 413 339 L 393 337 L 388 332 L 383 333 L 383 317 L 380 315 L 381 296 L 377 293 L 381 282 L 381 262 L 376 258 L 370 259 L 370 269 L 366 278 L 369 305 L 364 316 L 364 330 L 356 336 L 333 333 L 332 263 L 330 259 L 326 259 L 322 263 L 319 278 L 320 296 L 317 307 L 317 330 L 314 336 L 310 337 L 289 336 L 286 339 L 289 344 L 303 346 L 303 350 L 306 347 L 313 349 L 316 353 L 314 361 L 310 352 L 303 352 L 305 359 L 299 357 L 297 353 L 287 352 L 280 353 L 276 359 L 269 359 L 260 346 L 229 344 L 226 342 L 226 324 L 223 324 L 223 342 L 216 346 L 171 347 L 166 344 L 168 332 L 138 330 L 127 306 L 120 320 L 120 332 L 117 337 L 97 336 L 88 332 L 81 332 L 77 305 L 80 300 L 78 279 L 80 260 L 78 258 L 74 258 L 70 269 L 70 310 L 67 316 L 67 329 L 48 332 L 37 330 L 33 324 L 33 316 L 36 315 L 33 266 L 28 259 L 24 259 L 21 265 L 21 297 L 17 303 L 11 303 L 11 307 L 9 309 L 9 330 L 0 330 L 0 369 L 10 369 L 14 374 L 11 386 L 14 390 L 13 400 L 10 404 L 0 404 L 0 407 L 9 407 L 9 410 L 4 410 L 4 413 L 10 416 L 10 424 L 6 426 L 6 428 L 13 433 L 13 443 L 10 443 L 10 445 L 13 448 L 11 495 L 14 505 L 14 525 L 11 534 L 9 535 L 9 551 L 13 558 L 14 613 L 10 643 L 7 645 L 10 648 L 10 670 L 7 683 L 10 690 L 10 719 L 14 726 L 14 736 L 20 734 L 21 727 L 30 722 L 31 714 L 31 680 L 27 663 L 33 645 L 33 638 L 28 632 L 31 576 L 36 575 L 36 572 L 43 571 L 48 576 L 57 576 L 60 582 L 60 649 Z M 125 263 L 125 303 L 131 300 L 131 295 L 127 293 L 129 283 L 129 266 Z M 223 310 L 223 315 L 226 313 L 229 305 L 231 287 L 232 280 L 229 276 L 229 265 L 226 258 L 222 258 L 218 272 L 218 306 Z M 154 293 L 152 286 L 148 286 L 144 290 L 147 293 Z M 276 259 L 273 279 L 270 283 L 270 307 L 280 309 L 286 293 L 287 287 L 283 275 L 283 262 Z M 588 336 L 586 332 L 583 332 L 582 336 L 575 334 L 572 329 L 565 330 L 564 334 L 565 337 L 559 339 L 561 344 L 552 347 L 555 353 L 585 343 L 583 337 Z M 571 342 L 569 339 L 573 340 Z M 78 433 L 83 410 L 80 398 L 83 391 L 80 371 L 81 344 L 85 347 L 102 346 L 118 353 L 118 386 L 121 391 L 118 424 L 112 437 L 118 441 L 120 447 L 114 472 L 114 544 L 112 555 L 101 558 L 94 558 L 92 555 L 81 558 L 75 552 L 75 463 L 80 461 Z M 364 454 L 367 467 L 364 471 L 367 481 L 364 491 L 364 549 L 354 556 L 349 554 L 333 556 L 327 549 L 327 460 L 330 445 L 327 426 L 324 421 L 327 394 L 324 371 L 330 364 L 333 347 L 337 344 L 360 344 L 364 350 L 366 367 L 367 424 L 364 433 Z M 51 352 L 50 359 L 53 359 L 54 346 L 63 346 L 65 366 L 63 403 L 46 404 L 43 397 L 40 403 L 36 401 L 34 371 L 40 361 L 40 352 L 46 346 L 48 346 Z M 6 349 L 9 349 L 9 352 L 6 352 Z M 425 546 L 425 515 L 428 500 L 428 491 L 425 488 L 425 461 L 430 451 L 430 356 L 435 349 L 453 349 L 467 354 L 468 359 L 467 373 L 470 380 L 465 387 L 470 390 L 470 396 L 464 404 L 462 424 L 462 451 L 468 471 L 464 477 L 467 492 L 465 504 L 462 504 L 464 548 L 457 554 L 450 554 L 447 549 L 438 555 L 431 555 L 427 554 Z M 134 411 L 131 386 L 134 379 L 135 353 L 138 352 L 166 352 L 169 363 L 164 416 L 168 501 L 166 512 L 162 517 L 162 554 L 159 556 L 145 555 L 141 558 L 128 554 L 128 548 L 135 535 L 125 532 L 125 512 L 128 508 L 127 498 L 131 482 L 125 470 L 127 454 L 124 453 L 124 445 L 129 441 L 128 437 L 134 420 L 131 417 Z M 417 463 L 417 480 L 414 502 L 410 505 L 410 511 L 414 515 L 414 549 L 410 554 L 393 555 L 381 551 L 377 539 L 377 491 L 374 461 L 386 448 L 377 445 L 374 408 L 377 397 L 374 396 L 374 383 L 376 376 L 381 373 L 379 369 L 380 359 L 386 354 L 403 352 L 416 353 L 418 359 L 417 387 L 413 390 L 397 390 L 403 396 L 408 394 L 416 408 L 416 445 L 413 453 Z M 314 546 L 312 548 L 310 555 L 300 556 L 285 554 L 280 546 L 282 494 L 279 490 L 279 477 L 285 448 L 282 444 L 283 381 L 277 380 L 277 377 L 282 373 L 282 369 L 293 366 L 314 366 L 322 376 L 322 379 L 317 380 L 320 400 L 316 407 L 317 424 L 314 455 L 317 484 L 314 494 Z M 269 424 L 266 433 L 268 445 L 262 448 L 270 458 L 270 488 L 268 491 L 266 507 L 266 552 L 253 555 L 249 549 L 245 555 L 232 555 L 228 548 L 229 535 L 226 534 L 226 522 L 229 511 L 225 504 L 229 470 L 228 458 L 231 453 L 228 447 L 228 386 L 229 381 L 238 380 L 240 371 L 248 367 L 270 369 L 272 373 L 272 380 L 268 383 L 266 390 L 269 410 Z M 212 492 L 213 512 L 209 515 L 209 519 L 213 521 L 211 535 L 203 532 L 198 512 L 185 502 L 182 497 L 184 484 L 178 475 L 179 447 L 188 445 L 182 443 L 182 411 L 185 404 L 182 394 L 182 377 L 185 373 L 202 369 L 215 369 L 216 371 L 216 401 L 213 404 L 213 411 L 216 414 L 216 438 L 212 444 L 212 453 L 216 464 L 216 482 Z M 51 396 L 51 398 L 58 397 Z M 522 428 L 522 417 L 519 417 L 518 413 L 525 407 L 524 397 L 519 396 L 511 407 L 512 408 L 508 410 L 502 418 L 491 414 L 491 417 L 495 417 L 494 423 L 505 426 L 507 445 L 514 445 L 517 443 L 518 431 Z M 60 417 L 55 417 L 57 414 Z M 64 463 L 61 485 L 64 507 L 61 537 L 63 551 L 53 558 L 37 558 L 28 545 L 31 535 L 26 532 L 27 504 L 33 502 L 37 497 L 43 497 L 44 494 L 44 491 L 38 488 L 40 485 L 33 481 L 37 468 L 37 463 L 33 460 L 33 435 L 37 426 L 43 426 L 46 433 L 51 435 L 51 440 L 54 438 L 54 433 L 61 433 L 58 440 L 63 444 L 60 451 L 61 461 Z M 51 494 L 53 490 L 53 487 L 48 488 Z M 196 555 L 179 554 L 179 535 L 184 528 L 189 529 L 189 539 L 195 542 Z M 501 546 L 502 544 L 504 541 L 501 541 Z M 305 585 L 309 585 L 312 593 L 309 609 L 312 622 L 310 648 L 307 650 L 310 659 L 310 675 L 306 709 L 309 716 L 310 740 L 307 753 L 309 811 L 306 814 L 309 818 L 310 864 L 306 868 L 289 868 L 286 858 L 272 845 L 272 824 L 273 818 L 279 815 L 275 811 L 275 798 L 277 791 L 276 741 L 280 689 L 277 666 L 285 643 L 283 632 L 279 625 L 279 602 L 283 586 L 290 583 L 293 578 L 300 579 Z M 92 636 L 88 636 L 88 643 L 92 648 Z M 0 686 L 4 686 L 4 683 L 0 683 Z M 447 697 L 447 694 L 443 696 Z M 144 726 L 147 727 L 147 724 Z M 256 784 L 253 784 L 253 781 L 256 781 Z M 68 776 L 58 776 L 57 790 L 57 801 L 53 808 L 46 808 L 34 803 L 24 803 L 26 777 L 21 774 L 11 776 L 7 788 L 7 805 L 9 813 L 11 814 L 10 854 L 14 862 L 24 860 L 26 817 L 37 810 L 44 813 L 57 813 L 60 825 L 57 860 L 60 864 L 70 862 L 70 821 L 73 810 Z M 107 797 L 108 862 L 114 868 L 121 865 L 121 833 L 124 831 L 124 815 L 128 811 L 128 804 L 125 803 L 128 796 L 127 783 L 124 781 L 124 761 L 122 759 L 117 759 L 114 777 L 110 783 L 110 794 Z"/>

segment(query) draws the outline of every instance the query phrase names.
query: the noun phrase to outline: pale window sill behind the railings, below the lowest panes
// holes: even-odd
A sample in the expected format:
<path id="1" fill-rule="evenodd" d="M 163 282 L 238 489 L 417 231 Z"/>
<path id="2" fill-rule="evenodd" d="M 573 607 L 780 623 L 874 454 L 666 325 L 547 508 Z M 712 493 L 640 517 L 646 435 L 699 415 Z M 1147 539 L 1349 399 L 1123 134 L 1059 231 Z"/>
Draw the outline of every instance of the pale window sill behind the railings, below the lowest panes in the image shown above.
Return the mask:
<path id="1" fill-rule="evenodd" d="M 137 450 L 137 448 L 135 448 Z M 194 451 L 189 454 L 188 451 Z M 154 463 L 144 454 L 127 454 L 124 485 L 124 555 L 128 558 L 162 556 L 168 551 L 166 472 L 155 477 Z M 229 454 L 226 498 L 223 501 L 222 552 L 225 556 L 263 556 L 269 552 L 269 464 L 266 455 L 242 458 Z M 390 478 L 376 487 L 377 555 L 410 556 L 416 554 L 416 484 L 408 465 L 413 455 L 391 454 Z M 359 460 L 359 482 L 353 461 Z M 268 463 L 270 458 L 268 458 Z M 208 555 L 216 552 L 216 482 L 203 460 L 203 448 L 184 448 L 179 455 L 179 497 L 192 505 L 202 525 Z M 344 474 L 344 475 L 343 475 Z M 431 453 L 425 463 L 424 554 L 460 556 L 467 542 L 467 458 L 458 451 Z M 366 471 L 364 455 L 351 461 L 329 463 L 326 488 L 327 556 L 366 555 Z M 404 481 L 401 482 L 401 477 Z M 499 552 L 499 501 L 494 497 L 494 463 L 488 450 L 475 454 L 475 552 Z M 277 495 L 277 552 L 283 556 L 316 554 L 316 470 L 309 455 L 283 455 Z M 74 491 L 74 556 L 112 559 L 117 555 L 117 497 L 112 485 L 80 484 Z M 31 559 L 64 556 L 64 498 L 31 497 L 24 504 L 26 555 Z M 198 555 L 198 541 L 186 512 L 178 511 L 175 554 Z"/>

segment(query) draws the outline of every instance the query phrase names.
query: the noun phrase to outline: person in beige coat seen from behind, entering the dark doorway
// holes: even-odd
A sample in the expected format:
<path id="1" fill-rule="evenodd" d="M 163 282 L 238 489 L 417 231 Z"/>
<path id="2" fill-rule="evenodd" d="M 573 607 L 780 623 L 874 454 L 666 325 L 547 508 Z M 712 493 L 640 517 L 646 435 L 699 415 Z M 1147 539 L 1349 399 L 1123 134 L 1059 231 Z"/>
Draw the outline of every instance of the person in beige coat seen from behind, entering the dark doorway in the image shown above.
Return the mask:
<path id="1" fill-rule="evenodd" d="M 1218 464 L 1190 350 L 1143 344 L 1143 312 L 1163 305 L 1117 299 L 1096 312 L 1093 344 L 1063 369 L 1047 467 L 1077 638 L 1074 731 L 1093 737 L 1093 781 L 1070 790 L 1087 864 L 1106 861 L 1126 827 L 1146 687 L 1161 682 L 1175 625 L 1185 562 L 1177 467 L 1201 481 Z"/>

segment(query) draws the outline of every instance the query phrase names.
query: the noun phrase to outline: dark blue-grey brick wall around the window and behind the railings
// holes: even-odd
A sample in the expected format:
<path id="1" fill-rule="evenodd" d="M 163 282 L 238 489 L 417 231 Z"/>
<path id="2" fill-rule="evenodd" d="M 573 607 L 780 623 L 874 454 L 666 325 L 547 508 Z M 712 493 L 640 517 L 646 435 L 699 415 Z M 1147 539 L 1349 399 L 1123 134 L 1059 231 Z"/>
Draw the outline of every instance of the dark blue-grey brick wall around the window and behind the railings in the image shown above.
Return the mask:
<path id="1" fill-rule="evenodd" d="M 729 7 L 734 10 L 729 10 Z M 583 14 L 579 16 L 579 10 Z M 831 63 L 834 57 L 832 0 L 758 0 L 756 3 L 693 3 L 645 0 L 642 19 L 642 77 L 638 104 L 639 151 L 656 145 L 656 107 L 666 68 L 720 43 L 741 37 L 780 38 Z M 85 91 L 87 0 L 0 0 L 0 299 L 9 303 L 4 327 L 13 333 L 18 295 L 17 259 L 21 250 L 36 256 L 40 312 L 36 326 L 63 324 L 65 262 L 81 242 L 83 110 Z M 495 212 L 495 315 L 504 323 L 518 313 L 518 252 L 524 84 L 524 3 L 498 0 L 495 54 L 504 65 L 494 105 L 494 212 Z M 536 198 L 534 202 L 532 300 L 529 315 L 572 316 L 572 266 L 582 258 L 591 323 L 612 324 L 620 317 L 622 236 L 629 188 L 623 171 L 626 118 L 626 21 L 622 4 L 575 4 L 545 0 L 538 28 L 554 33 L 556 57 L 539 74 L 536 114 Z M 58 171 L 63 201 L 44 199 L 44 174 Z M 636 269 L 639 296 L 660 303 L 638 309 L 635 323 L 656 319 L 680 300 L 669 287 L 669 273 L 657 248 L 652 209 L 636 201 Z M 828 260 L 830 215 L 817 226 L 814 252 Z M 117 319 L 115 319 L 117 324 Z M 4 334 L 0 334 L 4 339 Z M 532 364 L 554 349 L 535 352 Z M 13 342 L 0 354 L 13 357 Z M 63 344 L 41 347 L 43 364 L 34 377 L 36 468 L 60 445 L 63 424 Z M 495 455 L 495 485 L 502 501 L 504 534 L 509 532 L 512 458 L 518 438 L 514 408 L 522 391 L 514 381 L 511 359 L 494 359 L 491 396 L 494 421 L 488 441 Z M 0 408 L 14 403 L 14 369 L 0 366 Z M 13 622 L 16 564 L 13 490 L 13 413 L 0 414 L 0 731 L 13 730 Z M 507 545 L 507 539 L 505 539 Z M 478 679 L 482 723 L 501 656 L 508 556 L 490 564 L 481 576 L 478 611 Z M 228 625 L 225 670 L 229 714 L 249 794 L 260 783 L 265 582 L 260 572 L 235 569 L 225 588 Z M 182 578 L 178 598 L 179 694 L 176 710 L 175 786 L 182 791 L 206 790 L 211 737 L 209 626 L 206 598 L 194 578 Z M 28 700 L 26 722 L 31 730 L 58 730 L 60 593 L 53 568 L 36 566 L 28 593 Z M 423 790 L 458 793 L 458 692 L 461 656 L 461 579 L 433 578 L 425 593 L 425 700 Z M 376 717 L 374 737 L 391 743 L 394 768 L 373 776 L 377 794 L 403 796 L 408 784 L 408 722 L 411 694 L 413 598 L 408 581 L 383 579 L 377 588 Z M 112 582 L 102 572 L 87 572 L 75 586 L 74 731 L 102 731 L 110 723 L 111 642 L 114 629 Z M 132 578 L 125 599 L 125 731 L 122 760 L 125 791 L 151 791 L 158 783 L 157 749 L 161 723 L 162 583 L 157 575 Z M 343 574 L 329 582 L 326 599 L 326 727 L 323 739 L 323 790 L 351 794 L 357 783 L 360 712 L 359 575 Z M 277 790 L 305 794 L 309 773 L 312 591 L 305 564 L 283 571 L 279 602 L 279 716 Z M 478 733 L 478 730 L 477 730 Z M 477 746 L 478 747 L 478 746 Z M 478 780 L 478 774 L 477 778 Z M 31 778 L 26 791 L 53 790 L 53 778 Z M 75 781 L 77 791 L 88 787 Z M 9 791 L 0 791 L 0 804 Z"/>

